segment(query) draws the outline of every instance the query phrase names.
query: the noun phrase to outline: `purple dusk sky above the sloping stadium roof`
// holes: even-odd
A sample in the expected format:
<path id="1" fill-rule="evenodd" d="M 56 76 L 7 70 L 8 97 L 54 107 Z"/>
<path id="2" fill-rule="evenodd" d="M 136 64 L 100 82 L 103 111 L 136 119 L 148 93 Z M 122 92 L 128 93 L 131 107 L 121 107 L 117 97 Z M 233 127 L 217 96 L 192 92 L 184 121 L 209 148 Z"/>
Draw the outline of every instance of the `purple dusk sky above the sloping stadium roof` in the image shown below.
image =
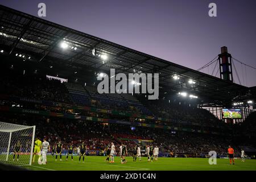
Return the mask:
<path id="1" fill-rule="evenodd" d="M 47 7 L 44 19 L 185 67 L 200 68 L 221 46 L 256 67 L 256 1 L 0 0 L 35 16 L 40 2 Z M 211 2 L 217 5 L 217 17 L 208 15 Z M 235 65 L 242 85 L 255 86 L 256 70 L 246 68 L 246 82 L 245 68 L 242 74 L 241 64 Z M 211 75 L 212 67 L 203 72 Z M 233 76 L 238 82 L 234 71 Z"/>

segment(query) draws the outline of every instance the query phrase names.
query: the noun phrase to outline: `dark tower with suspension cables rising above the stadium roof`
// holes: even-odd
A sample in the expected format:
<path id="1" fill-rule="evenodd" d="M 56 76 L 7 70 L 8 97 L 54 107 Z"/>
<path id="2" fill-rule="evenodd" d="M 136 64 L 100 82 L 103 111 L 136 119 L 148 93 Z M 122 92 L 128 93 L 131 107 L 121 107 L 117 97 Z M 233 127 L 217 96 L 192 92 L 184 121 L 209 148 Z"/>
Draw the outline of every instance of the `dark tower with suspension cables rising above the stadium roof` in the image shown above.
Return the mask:
<path id="1" fill-rule="evenodd" d="M 232 73 L 232 56 L 228 53 L 226 46 L 221 47 L 221 53 L 218 55 L 218 62 L 220 64 L 220 78 L 233 82 Z"/>

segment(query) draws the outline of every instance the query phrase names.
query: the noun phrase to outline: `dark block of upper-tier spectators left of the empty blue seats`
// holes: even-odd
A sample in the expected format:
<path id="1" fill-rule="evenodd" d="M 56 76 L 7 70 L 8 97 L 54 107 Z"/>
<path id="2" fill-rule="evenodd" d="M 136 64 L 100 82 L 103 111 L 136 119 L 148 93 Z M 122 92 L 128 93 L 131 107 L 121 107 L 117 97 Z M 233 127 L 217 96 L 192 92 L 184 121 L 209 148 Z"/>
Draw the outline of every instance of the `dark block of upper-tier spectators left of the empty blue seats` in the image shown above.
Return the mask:
<path id="1" fill-rule="evenodd" d="M 50 80 L 46 76 L 32 77 L 27 75 L 3 75 L 0 80 L 1 94 L 34 100 L 71 102 L 67 89 L 59 80 Z"/>

